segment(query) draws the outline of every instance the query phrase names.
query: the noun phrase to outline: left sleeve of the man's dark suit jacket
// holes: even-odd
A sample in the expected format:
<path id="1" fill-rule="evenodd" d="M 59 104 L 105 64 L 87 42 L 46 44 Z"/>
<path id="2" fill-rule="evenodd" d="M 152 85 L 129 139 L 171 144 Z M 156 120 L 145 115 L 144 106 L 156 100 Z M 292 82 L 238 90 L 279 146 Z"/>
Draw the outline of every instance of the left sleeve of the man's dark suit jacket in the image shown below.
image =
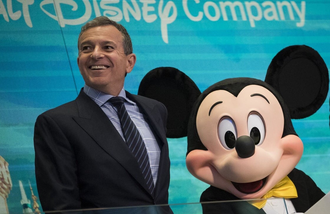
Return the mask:
<path id="1" fill-rule="evenodd" d="M 45 113 L 35 123 L 34 148 L 43 210 L 81 208 L 73 148 L 61 127 Z"/>

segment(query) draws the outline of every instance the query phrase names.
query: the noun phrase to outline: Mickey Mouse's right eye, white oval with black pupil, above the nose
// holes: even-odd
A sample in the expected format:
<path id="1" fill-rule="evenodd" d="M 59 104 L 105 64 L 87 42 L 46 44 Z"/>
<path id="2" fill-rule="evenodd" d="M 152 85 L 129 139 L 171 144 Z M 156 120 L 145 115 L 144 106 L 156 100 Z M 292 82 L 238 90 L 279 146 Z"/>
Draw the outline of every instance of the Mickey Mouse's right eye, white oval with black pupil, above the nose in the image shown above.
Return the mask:
<path id="1" fill-rule="evenodd" d="M 266 129 L 264 120 L 258 113 L 253 112 L 248 116 L 248 130 L 254 144 L 261 145 L 265 139 Z"/>

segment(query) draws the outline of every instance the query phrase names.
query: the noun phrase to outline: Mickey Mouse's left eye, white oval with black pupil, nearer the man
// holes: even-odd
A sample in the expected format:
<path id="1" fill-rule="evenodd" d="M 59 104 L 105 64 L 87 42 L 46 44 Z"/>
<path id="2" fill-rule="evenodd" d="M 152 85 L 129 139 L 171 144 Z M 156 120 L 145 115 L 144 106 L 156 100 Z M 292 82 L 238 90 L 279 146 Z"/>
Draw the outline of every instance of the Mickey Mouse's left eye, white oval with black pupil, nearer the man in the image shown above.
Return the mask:
<path id="1" fill-rule="evenodd" d="M 229 117 L 222 118 L 218 124 L 218 138 L 221 145 L 228 150 L 233 149 L 235 147 L 236 136 L 235 122 Z"/>

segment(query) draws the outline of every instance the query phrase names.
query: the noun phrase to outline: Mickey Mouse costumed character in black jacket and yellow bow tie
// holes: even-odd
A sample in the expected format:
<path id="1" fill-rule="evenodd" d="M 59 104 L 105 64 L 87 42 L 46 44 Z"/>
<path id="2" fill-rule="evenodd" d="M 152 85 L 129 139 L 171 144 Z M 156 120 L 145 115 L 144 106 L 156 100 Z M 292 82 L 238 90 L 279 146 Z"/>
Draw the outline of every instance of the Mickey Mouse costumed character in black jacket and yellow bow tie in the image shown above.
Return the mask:
<path id="1" fill-rule="evenodd" d="M 305 212 L 325 195 L 308 175 L 295 169 L 303 143 L 291 122 L 314 114 L 328 93 L 328 69 L 314 49 L 293 45 L 281 50 L 272 60 L 265 82 L 226 79 L 200 94 L 190 78 L 178 75 L 184 76 L 173 68 L 150 71 L 139 94 L 165 104 L 168 125 L 185 121 L 171 118 L 171 112 L 178 111 L 177 103 L 171 100 L 178 94 L 188 97 L 180 105 L 186 104 L 184 109 L 189 111 L 180 115 L 186 118 L 191 112 L 189 120 L 175 129 L 168 127 L 173 131 L 168 137 L 182 137 L 187 131 L 186 166 L 192 175 L 211 185 L 202 193 L 201 201 L 266 199 L 276 188 L 280 189 L 279 196 L 274 196 L 286 198 L 284 195 L 289 194 L 295 211 Z M 150 83 L 163 86 L 164 91 L 149 90 Z M 196 102 L 190 106 L 191 100 Z M 283 186 L 289 193 L 284 194 Z M 206 203 L 203 212 L 265 213 L 261 207 L 245 201 L 240 206 Z"/>

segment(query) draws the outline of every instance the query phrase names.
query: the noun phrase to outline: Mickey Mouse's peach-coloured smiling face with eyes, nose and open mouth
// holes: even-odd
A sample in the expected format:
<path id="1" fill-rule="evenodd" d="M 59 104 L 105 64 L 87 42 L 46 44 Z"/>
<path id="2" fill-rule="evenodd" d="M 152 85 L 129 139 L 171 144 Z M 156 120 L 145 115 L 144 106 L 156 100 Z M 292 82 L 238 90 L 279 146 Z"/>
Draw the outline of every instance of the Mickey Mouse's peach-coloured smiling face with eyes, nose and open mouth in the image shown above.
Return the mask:
<path id="1" fill-rule="evenodd" d="M 189 172 L 242 199 L 267 193 L 303 152 L 299 137 L 282 138 L 282 107 L 260 85 L 248 85 L 237 96 L 225 90 L 207 94 L 197 111 L 196 128 L 207 151 L 188 153 Z"/>

